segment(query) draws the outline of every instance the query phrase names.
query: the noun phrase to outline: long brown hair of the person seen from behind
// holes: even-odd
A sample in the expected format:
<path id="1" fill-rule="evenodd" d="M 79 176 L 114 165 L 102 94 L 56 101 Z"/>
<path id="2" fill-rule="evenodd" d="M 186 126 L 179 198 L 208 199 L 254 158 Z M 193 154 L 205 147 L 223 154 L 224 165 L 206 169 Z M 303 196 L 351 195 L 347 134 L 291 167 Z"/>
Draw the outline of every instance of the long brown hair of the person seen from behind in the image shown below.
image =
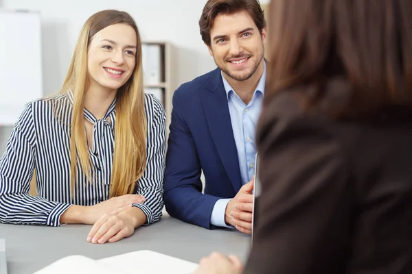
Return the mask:
<path id="1" fill-rule="evenodd" d="M 266 102 L 299 86 L 319 99 L 341 77 L 338 116 L 412 105 L 412 1 L 275 0 L 269 14 Z"/>

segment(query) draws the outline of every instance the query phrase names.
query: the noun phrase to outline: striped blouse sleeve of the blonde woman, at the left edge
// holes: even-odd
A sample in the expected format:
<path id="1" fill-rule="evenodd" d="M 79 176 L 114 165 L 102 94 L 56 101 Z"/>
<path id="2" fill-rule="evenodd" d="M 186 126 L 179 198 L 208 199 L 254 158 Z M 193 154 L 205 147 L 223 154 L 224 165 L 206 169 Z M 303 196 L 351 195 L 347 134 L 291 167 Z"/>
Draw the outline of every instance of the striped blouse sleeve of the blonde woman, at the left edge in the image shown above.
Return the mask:
<path id="1" fill-rule="evenodd" d="M 29 195 L 36 153 L 32 104 L 14 125 L 0 158 L 0 223 L 59 226 L 69 204 Z"/>

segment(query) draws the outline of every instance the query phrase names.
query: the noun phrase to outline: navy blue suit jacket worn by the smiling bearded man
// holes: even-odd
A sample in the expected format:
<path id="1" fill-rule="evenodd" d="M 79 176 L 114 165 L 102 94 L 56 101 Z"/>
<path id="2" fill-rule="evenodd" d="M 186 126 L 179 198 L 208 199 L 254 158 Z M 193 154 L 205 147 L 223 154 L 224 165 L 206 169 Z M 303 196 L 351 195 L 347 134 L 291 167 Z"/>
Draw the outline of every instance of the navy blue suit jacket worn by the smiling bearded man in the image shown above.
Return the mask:
<path id="1" fill-rule="evenodd" d="M 202 193 L 201 171 L 205 175 Z M 220 69 L 181 85 L 173 95 L 164 201 L 170 216 L 202 227 L 214 204 L 242 187 L 238 153 Z"/>

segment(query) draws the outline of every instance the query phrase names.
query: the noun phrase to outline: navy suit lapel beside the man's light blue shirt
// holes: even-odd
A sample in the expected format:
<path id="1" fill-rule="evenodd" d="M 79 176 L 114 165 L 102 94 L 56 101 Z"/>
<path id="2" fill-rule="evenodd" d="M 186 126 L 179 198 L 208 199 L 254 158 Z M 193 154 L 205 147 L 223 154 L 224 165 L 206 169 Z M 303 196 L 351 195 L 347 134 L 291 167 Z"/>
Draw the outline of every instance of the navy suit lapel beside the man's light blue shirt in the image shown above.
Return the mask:
<path id="1" fill-rule="evenodd" d="M 238 151 L 236 149 L 235 138 L 230 120 L 229 106 L 227 105 L 227 95 L 223 86 L 220 69 L 211 73 L 209 82 L 202 90 L 201 101 L 203 112 L 205 113 L 207 125 L 214 144 L 218 149 L 220 160 L 231 184 L 236 192 L 242 187 Z"/>

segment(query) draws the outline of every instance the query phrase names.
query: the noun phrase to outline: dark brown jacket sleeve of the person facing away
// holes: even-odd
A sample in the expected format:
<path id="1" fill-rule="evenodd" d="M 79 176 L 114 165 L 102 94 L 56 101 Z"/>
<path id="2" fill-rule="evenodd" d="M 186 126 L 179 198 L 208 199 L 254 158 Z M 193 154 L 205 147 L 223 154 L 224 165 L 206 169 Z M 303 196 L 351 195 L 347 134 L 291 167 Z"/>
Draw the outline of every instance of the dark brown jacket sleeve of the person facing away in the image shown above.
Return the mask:
<path id="1" fill-rule="evenodd" d="M 336 273 L 347 259 L 351 187 L 332 122 L 262 114 L 262 194 L 245 273 Z"/>

